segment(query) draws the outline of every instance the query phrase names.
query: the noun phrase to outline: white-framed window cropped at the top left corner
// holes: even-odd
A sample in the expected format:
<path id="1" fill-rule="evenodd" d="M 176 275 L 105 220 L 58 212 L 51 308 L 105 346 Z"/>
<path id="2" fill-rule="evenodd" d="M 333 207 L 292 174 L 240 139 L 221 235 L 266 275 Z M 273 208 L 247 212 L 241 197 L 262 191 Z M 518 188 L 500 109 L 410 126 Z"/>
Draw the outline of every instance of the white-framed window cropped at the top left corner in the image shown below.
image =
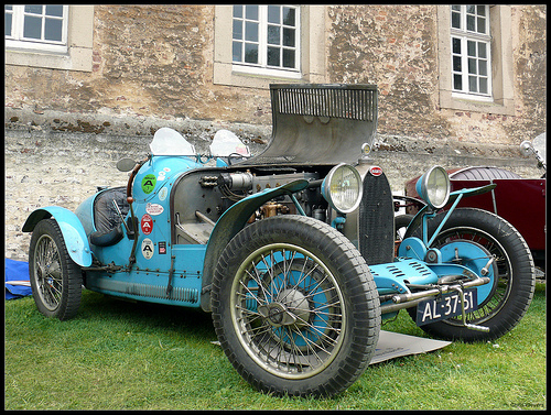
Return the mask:
<path id="1" fill-rule="evenodd" d="M 6 4 L 6 46 L 66 53 L 67 20 L 68 6 Z"/>

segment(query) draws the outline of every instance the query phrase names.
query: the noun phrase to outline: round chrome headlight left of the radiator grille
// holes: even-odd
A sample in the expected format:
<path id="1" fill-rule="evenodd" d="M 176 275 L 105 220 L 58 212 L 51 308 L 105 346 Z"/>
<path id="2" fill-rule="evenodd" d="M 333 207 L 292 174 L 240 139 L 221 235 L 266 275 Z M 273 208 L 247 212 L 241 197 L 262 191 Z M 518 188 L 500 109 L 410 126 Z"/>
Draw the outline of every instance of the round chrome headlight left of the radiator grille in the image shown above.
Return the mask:
<path id="1" fill-rule="evenodd" d="M 322 184 L 323 197 L 341 214 L 349 214 L 359 206 L 363 190 L 358 171 L 345 163 L 333 167 Z"/>

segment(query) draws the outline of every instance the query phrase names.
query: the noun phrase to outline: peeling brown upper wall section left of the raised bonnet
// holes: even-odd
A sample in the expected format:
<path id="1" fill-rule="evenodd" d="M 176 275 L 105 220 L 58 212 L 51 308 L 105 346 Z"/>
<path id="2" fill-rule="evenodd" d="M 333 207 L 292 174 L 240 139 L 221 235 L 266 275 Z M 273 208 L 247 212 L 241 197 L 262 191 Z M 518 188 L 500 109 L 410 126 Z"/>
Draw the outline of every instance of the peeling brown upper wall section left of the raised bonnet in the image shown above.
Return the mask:
<path id="1" fill-rule="evenodd" d="M 213 84 L 213 6 L 104 4 L 94 14 L 93 72 L 9 65 L 6 107 L 82 116 L 83 125 L 60 118 L 57 131 L 111 131 L 93 116 L 271 122 L 267 90 Z"/>

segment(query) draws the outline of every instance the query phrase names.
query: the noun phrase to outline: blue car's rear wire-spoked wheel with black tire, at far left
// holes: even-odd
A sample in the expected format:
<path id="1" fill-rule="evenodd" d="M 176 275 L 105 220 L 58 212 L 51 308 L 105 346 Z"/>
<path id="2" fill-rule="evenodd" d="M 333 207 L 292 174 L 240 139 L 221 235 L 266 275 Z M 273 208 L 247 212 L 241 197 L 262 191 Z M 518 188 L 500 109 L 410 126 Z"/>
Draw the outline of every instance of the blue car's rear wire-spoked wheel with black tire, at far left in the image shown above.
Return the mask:
<path id="1" fill-rule="evenodd" d="M 80 305 L 83 275 L 54 219 L 41 220 L 33 230 L 29 274 L 34 303 L 44 316 L 60 320 L 75 316 Z"/>

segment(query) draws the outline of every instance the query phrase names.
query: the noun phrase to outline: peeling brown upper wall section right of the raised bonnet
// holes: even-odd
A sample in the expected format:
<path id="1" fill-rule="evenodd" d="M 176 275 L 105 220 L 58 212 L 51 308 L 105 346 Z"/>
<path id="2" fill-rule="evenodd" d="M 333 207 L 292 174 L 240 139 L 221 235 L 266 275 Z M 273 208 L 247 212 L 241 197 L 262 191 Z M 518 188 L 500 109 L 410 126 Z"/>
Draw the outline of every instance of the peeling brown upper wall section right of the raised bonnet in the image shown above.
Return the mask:
<path id="1" fill-rule="evenodd" d="M 518 144 L 545 130 L 547 8 L 512 6 L 515 116 L 441 108 L 436 6 L 328 9 L 329 81 L 376 84 L 381 135 L 431 145 Z"/>

